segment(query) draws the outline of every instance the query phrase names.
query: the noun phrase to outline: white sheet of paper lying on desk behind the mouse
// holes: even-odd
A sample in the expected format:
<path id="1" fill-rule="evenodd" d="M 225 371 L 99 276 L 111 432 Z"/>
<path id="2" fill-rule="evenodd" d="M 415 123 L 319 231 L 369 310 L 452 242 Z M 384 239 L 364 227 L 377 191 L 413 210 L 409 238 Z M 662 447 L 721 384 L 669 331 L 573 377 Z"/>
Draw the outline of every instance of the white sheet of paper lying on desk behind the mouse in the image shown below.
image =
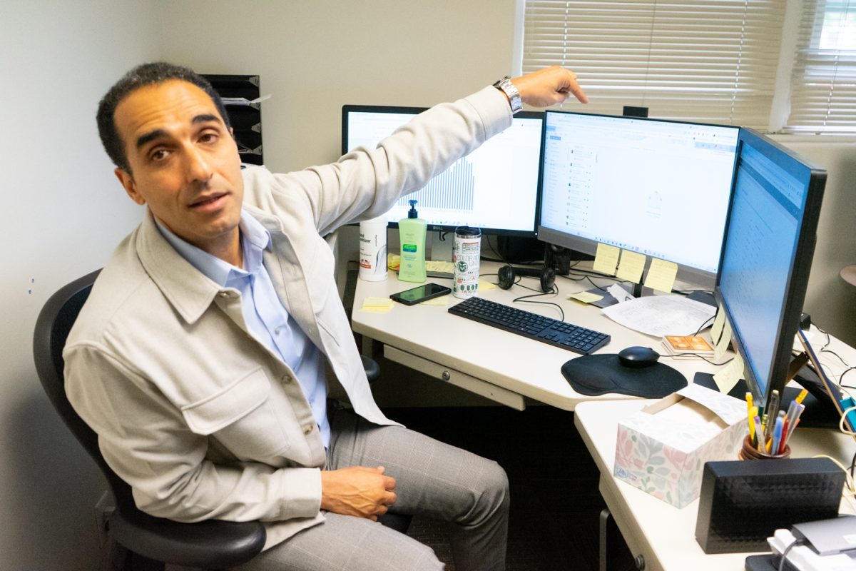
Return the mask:
<path id="1" fill-rule="evenodd" d="M 713 317 L 716 307 L 687 300 L 682 295 L 649 295 L 604 307 L 601 311 L 617 324 L 662 337 L 693 335 Z"/>

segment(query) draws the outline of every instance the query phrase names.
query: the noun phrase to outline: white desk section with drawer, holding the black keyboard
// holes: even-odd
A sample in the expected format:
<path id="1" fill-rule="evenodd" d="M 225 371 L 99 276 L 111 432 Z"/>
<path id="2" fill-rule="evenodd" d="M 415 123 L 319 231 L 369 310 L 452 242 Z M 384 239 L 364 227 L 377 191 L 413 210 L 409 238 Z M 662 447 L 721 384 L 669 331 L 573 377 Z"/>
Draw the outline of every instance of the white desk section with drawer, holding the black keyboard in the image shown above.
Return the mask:
<path id="1" fill-rule="evenodd" d="M 481 273 L 495 272 L 498 267 L 498 264 L 482 262 Z M 496 277 L 485 276 L 482 279 L 496 282 Z M 449 279 L 429 280 L 451 285 Z M 596 278 L 596 281 L 609 284 L 606 280 Z M 538 288 L 535 278 L 524 277 L 522 283 Z M 460 302 L 452 295 L 446 296 L 448 306 L 404 306 L 396 303 L 387 313 L 360 311 L 366 297 L 385 298 L 417 285 L 399 282 L 392 271 L 383 282 L 357 281 L 352 313 L 354 331 L 371 340 L 383 342 L 383 354 L 388 359 L 519 410 L 526 406 L 524 397 L 564 410 L 574 410 L 581 401 L 633 398 L 618 394 L 595 397 L 580 395 L 571 388 L 560 371 L 565 361 L 578 357 L 578 354 L 451 315 L 447 311 L 449 306 Z M 568 294 L 591 288 L 591 283 L 577 283 L 557 277 L 556 286 L 559 294 L 535 299 L 560 304 L 568 323 L 612 336 L 611 342 L 601 348 L 598 354 L 618 353 L 633 345 L 655 348 L 662 353 L 659 350 L 660 338 L 629 330 L 607 318 L 597 307 L 567 299 Z M 533 293 L 537 292 L 514 286 L 508 290 L 494 288 L 479 291 L 479 296 L 550 318 L 561 318 L 553 306 L 512 303 L 516 297 Z M 717 369 L 703 360 L 661 360 L 681 371 L 689 383 L 693 382 L 695 372 L 716 372 Z"/>

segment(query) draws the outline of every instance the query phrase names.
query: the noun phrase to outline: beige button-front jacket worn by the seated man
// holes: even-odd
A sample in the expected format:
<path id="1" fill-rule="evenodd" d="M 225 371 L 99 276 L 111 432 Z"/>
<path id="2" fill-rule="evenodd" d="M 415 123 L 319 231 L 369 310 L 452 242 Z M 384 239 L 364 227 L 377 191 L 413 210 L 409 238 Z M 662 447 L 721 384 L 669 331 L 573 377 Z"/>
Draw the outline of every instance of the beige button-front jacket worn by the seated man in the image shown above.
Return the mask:
<path id="1" fill-rule="evenodd" d="M 487 87 L 335 164 L 243 172 L 245 207 L 270 231 L 277 293 L 372 422 L 393 424 L 372 399 L 321 236 L 389 210 L 510 124 Z M 240 294 L 175 253 L 151 213 L 99 275 L 63 356 L 68 398 L 140 509 L 263 520 L 267 546 L 324 520 L 324 446 L 294 372 L 249 332 Z"/>

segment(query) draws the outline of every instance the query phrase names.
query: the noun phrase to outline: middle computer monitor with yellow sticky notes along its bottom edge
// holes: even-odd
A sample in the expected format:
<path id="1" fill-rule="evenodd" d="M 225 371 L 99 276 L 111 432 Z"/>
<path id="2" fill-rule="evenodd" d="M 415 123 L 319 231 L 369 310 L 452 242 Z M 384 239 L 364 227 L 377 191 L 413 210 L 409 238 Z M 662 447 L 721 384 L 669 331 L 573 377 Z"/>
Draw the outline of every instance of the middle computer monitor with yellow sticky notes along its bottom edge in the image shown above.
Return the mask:
<path id="1" fill-rule="evenodd" d="M 547 111 L 538 239 L 665 259 L 713 288 L 739 130 Z"/>

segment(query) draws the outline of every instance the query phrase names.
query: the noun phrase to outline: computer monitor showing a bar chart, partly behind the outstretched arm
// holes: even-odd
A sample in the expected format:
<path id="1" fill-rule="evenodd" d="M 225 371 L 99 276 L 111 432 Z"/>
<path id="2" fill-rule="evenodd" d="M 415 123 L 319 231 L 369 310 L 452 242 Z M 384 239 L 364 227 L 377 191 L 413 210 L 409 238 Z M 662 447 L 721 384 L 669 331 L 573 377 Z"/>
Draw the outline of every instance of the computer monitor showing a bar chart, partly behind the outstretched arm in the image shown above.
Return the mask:
<path id="1" fill-rule="evenodd" d="M 424 108 L 382 105 L 342 107 L 342 154 L 358 146 L 375 148 Z M 408 200 L 418 200 L 419 217 L 429 229 L 473 226 L 485 234 L 534 237 L 538 228 L 538 187 L 543 113 L 520 112 L 501 134 L 435 176 L 416 193 L 399 199 L 386 213 L 393 227 L 407 217 Z"/>

